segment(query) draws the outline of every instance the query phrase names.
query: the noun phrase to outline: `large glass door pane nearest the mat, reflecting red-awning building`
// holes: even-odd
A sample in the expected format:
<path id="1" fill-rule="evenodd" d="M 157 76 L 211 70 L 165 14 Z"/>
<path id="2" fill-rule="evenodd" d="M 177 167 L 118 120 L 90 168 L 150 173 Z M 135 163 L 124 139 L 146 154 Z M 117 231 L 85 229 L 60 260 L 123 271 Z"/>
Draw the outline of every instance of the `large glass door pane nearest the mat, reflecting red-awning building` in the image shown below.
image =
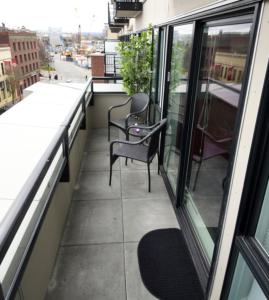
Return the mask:
<path id="1" fill-rule="evenodd" d="M 227 168 L 232 159 L 230 147 L 250 30 L 251 23 L 208 25 L 203 29 L 184 203 L 208 262 L 218 236 Z"/>

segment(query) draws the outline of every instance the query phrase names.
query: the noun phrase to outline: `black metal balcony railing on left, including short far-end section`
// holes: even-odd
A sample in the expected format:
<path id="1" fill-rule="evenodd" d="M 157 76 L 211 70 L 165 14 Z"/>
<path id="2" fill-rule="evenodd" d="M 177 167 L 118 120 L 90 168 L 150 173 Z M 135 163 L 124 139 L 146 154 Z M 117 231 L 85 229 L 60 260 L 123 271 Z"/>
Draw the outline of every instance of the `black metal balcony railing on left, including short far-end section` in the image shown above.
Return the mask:
<path id="1" fill-rule="evenodd" d="M 23 186 L 19 196 L 14 200 L 11 208 L 7 212 L 6 216 L 4 217 L 3 221 L 1 222 L 0 226 L 0 264 L 2 263 L 3 259 L 5 258 L 5 255 L 30 207 L 32 204 L 35 194 L 38 191 L 42 181 L 45 178 L 45 175 L 51 166 L 51 163 L 59 150 L 59 148 L 63 147 L 63 156 L 64 160 L 61 165 L 61 170 L 57 173 L 57 178 L 55 179 L 52 187 L 50 196 L 48 197 L 48 200 L 45 204 L 45 207 L 43 211 L 40 213 L 40 216 L 38 218 L 38 221 L 36 222 L 36 225 L 34 227 L 34 230 L 32 232 L 32 235 L 29 239 L 29 242 L 26 246 L 26 250 L 23 253 L 22 259 L 19 263 L 19 266 L 16 270 L 15 276 L 12 280 L 10 289 L 6 295 L 6 298 L 4 298 L 4 293 L 2 290 L 2 286 L 0 283 L 0 300 L 3 299 L 11 299 L 14 297 L 14 294 L 16 293 L 16 289 L 18 287 L 18 284 L 20 282 L 20 279 L 22 277 L 22 274 L 24 272 L 24 269 L 26 267 L 26 264 L 28 262 L 28 259 L 30 257 L 31 251 L 33 249 L 33 246 L 35 244 L 35 240 L 38 236 L 39 230 L 42 226 L 42 223 L 44 221 L 44 218 L 46 216 L 46 212 L 48 210 L 48 206 L 50 203 L 50 200 L 53 195 L 53 191 L 57 185 L 57 183 L 61 180 L 61 177 L 63 177 L 63 173 L 65 172 L 66 166 L 68 167 L 69 162 L 69 152 L 73 145 L 74 139 L 77 135 L 77 132 L 79 129 L 86 129 L 85 124 L 82 126 L 83 123 L 85 123 L 86 119 L 86 107 L 87 105 L 91 104 L 91 99 L 93 97 L 93 80 L 120 80 L 121 77 L 91 77 L 87 81 L 87 84 L 85 88 L 82 90 L 81 94 L 79 95 L 78 103 L 75 105 L 73 111 L 66 117 L 65 119 L 65 126 L 59 127 L 59 130 L 56 133 L 56 136 L 51 141 L 48 149 L 40 159 L 39 163 L 34 168 L 31 176 L 28 178 L 27 182 Z M 90 97 L 90 99 L 89 99 Z M 81 115 L 78 120 L 78 124 L 75 128 L 75 133 L 71 136 L 72 141 L 69 141 L 68 137 L 68 129 L 70 128 L 71 123 L 74 120 L 74 117 L 76 116 L 79 108 L 82 108 Z"/>

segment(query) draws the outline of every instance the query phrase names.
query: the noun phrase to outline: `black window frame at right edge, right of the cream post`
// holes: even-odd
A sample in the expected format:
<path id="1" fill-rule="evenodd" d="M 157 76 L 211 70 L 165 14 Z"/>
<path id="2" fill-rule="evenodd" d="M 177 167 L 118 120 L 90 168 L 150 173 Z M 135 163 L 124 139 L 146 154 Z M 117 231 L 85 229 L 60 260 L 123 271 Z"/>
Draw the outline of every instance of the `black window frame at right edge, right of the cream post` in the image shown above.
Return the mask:
<path id="1" fill-rule="evenodd" d="M 233 251 L 226 273 L 222 298 L 228 298 L 239 254 L 254 279 L 269 298 L 269 253 L 255 238 L 269 176 L 269 62 L 236 225 Z"/>

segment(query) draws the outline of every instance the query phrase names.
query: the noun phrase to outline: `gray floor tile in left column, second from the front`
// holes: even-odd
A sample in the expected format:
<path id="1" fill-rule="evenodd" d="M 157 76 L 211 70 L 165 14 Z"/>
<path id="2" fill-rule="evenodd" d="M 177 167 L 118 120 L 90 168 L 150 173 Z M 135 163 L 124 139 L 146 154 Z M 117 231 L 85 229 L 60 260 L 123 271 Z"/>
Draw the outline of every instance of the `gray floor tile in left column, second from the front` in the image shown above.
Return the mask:
<path id="1" fill-rule="evenodd" d="M 121 200 L 73 201 L 63 245 L 123 241 Z"/>

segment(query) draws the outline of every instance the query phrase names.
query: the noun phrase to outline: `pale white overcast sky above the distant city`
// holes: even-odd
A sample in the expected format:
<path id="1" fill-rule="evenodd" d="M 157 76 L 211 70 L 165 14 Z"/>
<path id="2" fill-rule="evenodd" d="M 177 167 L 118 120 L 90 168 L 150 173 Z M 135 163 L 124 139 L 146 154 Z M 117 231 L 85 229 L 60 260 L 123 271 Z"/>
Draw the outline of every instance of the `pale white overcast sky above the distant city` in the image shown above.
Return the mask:
<path id="1" fill-rule="evenodd" d="M 16 29 L 63 32 L 101 32 L 107 23 L 108 0 L 5 0 L 1 1 L 0 25 Z"/>

